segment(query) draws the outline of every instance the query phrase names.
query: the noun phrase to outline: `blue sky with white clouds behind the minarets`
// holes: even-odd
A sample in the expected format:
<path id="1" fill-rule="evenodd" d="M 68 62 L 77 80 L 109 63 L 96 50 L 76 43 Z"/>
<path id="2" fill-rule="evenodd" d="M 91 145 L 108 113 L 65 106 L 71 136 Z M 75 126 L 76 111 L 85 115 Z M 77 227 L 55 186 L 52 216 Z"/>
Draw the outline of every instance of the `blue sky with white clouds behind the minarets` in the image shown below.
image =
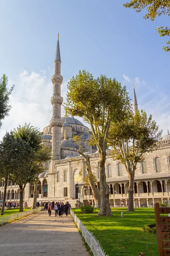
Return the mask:
<path id="1" fill-rule="evenodd" d="M 168 26 L 170 17 L 150 22 L 143 19 L 146 11 L 125 9 L 125 2 L 0 0 L 0 76 L 8 76 L 9 87 L 15 84 L 0 138 L 25 122 L 41 130 L 49 124 L 58 31 L 64 98 L 67 81 L 82 69 L 94 77 L 116 77 L 131 99 L 134 82 L 139 108 L 152 113 L 167 134 L 170 53 L 162 50 L 167 38 L 160 38 L 156 27 Z"/>

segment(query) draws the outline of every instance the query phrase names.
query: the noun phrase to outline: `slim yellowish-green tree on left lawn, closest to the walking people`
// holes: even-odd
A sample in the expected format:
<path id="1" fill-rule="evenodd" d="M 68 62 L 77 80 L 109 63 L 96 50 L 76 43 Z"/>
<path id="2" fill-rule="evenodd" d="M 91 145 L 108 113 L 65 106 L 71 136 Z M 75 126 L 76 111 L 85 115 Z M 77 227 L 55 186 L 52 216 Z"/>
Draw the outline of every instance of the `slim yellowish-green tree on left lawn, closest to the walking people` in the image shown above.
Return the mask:
<path id="1" fill-rule="evenodd" d="M 36 176 L 33 178 L 34 180 L 34 196 L 33 196 L 33 204 L 32 209 L 36 209 L 36 203 L 37 203 L 37 186 L 38 186 L 38 175 L 45 170 L 45 167 L 43 166 L 43 163 L 51 160 L 51 148 L 49 147 L 43 147 L 40 148 L 36 155 L 34 160 L 34 168 L 36 172 Z"/>

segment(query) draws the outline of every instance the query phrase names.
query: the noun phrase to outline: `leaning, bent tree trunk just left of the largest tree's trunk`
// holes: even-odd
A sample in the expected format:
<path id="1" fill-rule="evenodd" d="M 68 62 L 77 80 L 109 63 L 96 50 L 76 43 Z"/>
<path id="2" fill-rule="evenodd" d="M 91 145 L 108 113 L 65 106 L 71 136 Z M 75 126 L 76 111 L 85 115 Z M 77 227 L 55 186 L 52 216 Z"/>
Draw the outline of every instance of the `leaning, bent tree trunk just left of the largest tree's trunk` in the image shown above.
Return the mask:
<path id="1" fill-rule="evenodd" d="M 77 152 L 79 152 L 79 154 L 81 154 L 84 158 L 85 158 L 85 164 L 86 164 L 86 170 L 88 173 L 88 179 L 89 179 L 89 183 L 91 186 L 91 190 L 93 192 L 94 195 L 94 201 L 95 201 L 95 208 L 99 208 L 100 207 L 100 191 L 99 189 L 96 187 L 96 183 L 94 182 L 94 175 L 91 171 L 91 165 L 90 165 L 90 157 L 88 155 L 83 154 L 79 149 L 77 150 Z"/>

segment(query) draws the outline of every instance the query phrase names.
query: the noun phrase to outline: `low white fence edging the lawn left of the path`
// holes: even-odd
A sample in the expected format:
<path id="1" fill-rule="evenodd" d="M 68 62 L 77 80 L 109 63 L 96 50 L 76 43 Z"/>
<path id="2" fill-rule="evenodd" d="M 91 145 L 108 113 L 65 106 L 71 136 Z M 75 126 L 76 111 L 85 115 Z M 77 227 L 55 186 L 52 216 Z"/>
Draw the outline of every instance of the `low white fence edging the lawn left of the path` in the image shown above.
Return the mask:
<path id="1" fill-rule="evenodd" d="M 26 217 L 28 215 L 31 215 L 32 213 L 35 213 L 35 212 L 40 212 L 43 209 L 44 209 L 44 207 L 40 207 L 40 208 L 37 208 L 37 209 L 30 209 L 30 210 L 24 211 L 24 212 L 18 212 L 18 213 L 14 213 L 14 214 L 10 214 L 10 215 L 4 215 L 2 217 L 0 216 L 0 225 L 3 226 L 3 224 L 6 224 L 6 223 L 11 222 L 11 221 L 16 221 L 19 218 Z"/>

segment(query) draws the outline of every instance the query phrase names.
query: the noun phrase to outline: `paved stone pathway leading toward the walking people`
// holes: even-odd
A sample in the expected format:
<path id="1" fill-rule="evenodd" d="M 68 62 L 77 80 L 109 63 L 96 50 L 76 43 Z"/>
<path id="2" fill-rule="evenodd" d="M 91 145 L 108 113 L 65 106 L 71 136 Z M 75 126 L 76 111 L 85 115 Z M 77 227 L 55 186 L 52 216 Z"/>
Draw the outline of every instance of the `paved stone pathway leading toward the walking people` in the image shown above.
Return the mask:
<path id="1" fill-rule="evenodd" d="M 73 219 L 46 210 L 0 227 L 0 256 L 88 256 Z"/>

